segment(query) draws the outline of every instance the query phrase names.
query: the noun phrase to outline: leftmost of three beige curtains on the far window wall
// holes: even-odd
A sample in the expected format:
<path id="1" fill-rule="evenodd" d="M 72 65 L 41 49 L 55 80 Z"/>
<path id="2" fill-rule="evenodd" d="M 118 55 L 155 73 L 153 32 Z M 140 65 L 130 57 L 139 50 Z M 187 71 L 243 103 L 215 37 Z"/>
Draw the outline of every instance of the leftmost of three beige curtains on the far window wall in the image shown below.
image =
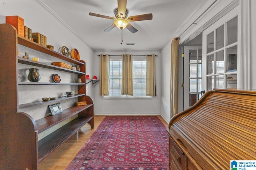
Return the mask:
<path id="1" fill-rule="evenodd" d="M 110 55 L 100 55 L 100 96 L 109 95 Z"/>

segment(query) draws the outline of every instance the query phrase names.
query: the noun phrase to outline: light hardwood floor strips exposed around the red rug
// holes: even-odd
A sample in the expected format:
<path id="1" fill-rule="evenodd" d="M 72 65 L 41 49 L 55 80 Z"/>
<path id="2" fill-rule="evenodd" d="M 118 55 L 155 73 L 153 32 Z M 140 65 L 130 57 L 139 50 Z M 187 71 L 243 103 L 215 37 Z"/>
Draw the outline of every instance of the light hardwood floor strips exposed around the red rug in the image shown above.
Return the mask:
<path id="1" fill-rule="evenodd" d="M 73 160 L 79 150 L 88 141 L 90 136 L 94 133 L 97 127 L 100 125 L 105 115 L 94 116 L 94 129 L 91 129 L 90 125 L 86 124 L 78 131 L 77 134 L 70 137 L 48 157 L 46 157 L 40 164 L 39 170 L 65 170 L 69 163 Z M 168 127 L 168 123 L 158 115 L 158 118 L 162 123 Z"/>

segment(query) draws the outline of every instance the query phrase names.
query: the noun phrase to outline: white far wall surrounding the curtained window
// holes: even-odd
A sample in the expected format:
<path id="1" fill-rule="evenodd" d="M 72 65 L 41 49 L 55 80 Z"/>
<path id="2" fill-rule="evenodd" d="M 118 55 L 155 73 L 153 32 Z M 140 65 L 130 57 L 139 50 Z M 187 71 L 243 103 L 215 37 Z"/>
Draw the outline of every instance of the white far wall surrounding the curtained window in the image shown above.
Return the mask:
<path id="1" fill-rule="evenodd" d="M 161 54 L 158 51 L 101 51 L 94 53 L 94 75 L 99 77 L 100 54 L 110 55 L 158 55 L 156 57 L 156 97 L 153 98 L 102 98 L 99 95 L 99 83 L 94 88 L 95 115 L 160 115 L 161 99 Z M 91 77 L 92 75 L 90 75 Z"/>

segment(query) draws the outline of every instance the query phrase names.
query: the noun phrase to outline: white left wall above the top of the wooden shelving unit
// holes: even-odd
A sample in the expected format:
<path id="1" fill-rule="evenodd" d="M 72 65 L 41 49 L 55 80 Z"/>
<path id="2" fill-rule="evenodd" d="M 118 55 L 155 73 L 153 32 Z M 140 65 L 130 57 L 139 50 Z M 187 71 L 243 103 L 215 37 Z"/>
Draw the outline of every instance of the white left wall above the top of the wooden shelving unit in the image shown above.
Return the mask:
<path id="1" fill-rule="evenodd" d="M 73 48 L 78 49 L 80 60 L 86 62 L 86 73 L 92 74 L 92 49 L 38 2 L 35 0 L 0 0 L 0 23 L 5 23 L 5 16 L 16 15 L 24 19 L 24 25 L 31 28 L 32 32 L 44 34 L 47 37 L 47 44 L 54 46 L 54 51 L 59 51 L 62 46 L 68 47 L 70 51 Z M 87 95 L 93 95 L 92 89 L 88 89 Z"/>

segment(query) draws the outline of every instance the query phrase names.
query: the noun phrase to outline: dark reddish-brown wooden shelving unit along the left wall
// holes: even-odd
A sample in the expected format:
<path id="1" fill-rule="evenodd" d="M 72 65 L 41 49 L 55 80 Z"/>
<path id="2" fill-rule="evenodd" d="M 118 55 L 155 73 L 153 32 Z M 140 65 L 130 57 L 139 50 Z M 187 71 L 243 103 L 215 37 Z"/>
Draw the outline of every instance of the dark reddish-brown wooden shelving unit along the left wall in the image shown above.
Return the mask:
<path id="1" fill-rule="evenodd" d="M 1 63 L 4 63 L 0 69 L 0 91 L 4 96 L 4 98 L 0 98 L 0 103 L 2 108 L 4 108 L 1 109 L 0 113 L 0 168 L 35 170 L 38 169 L 40 161 L 76 133 L 84 124 L 89 123 L 94 128 L 94 104 L 92 98 L 86 96 L 86 64 L 84 61 L 76 61 L 17 35 L 16 29 L 9 24 L 0 24 L 0 39 L 0 60 Z M 47 57 L 79 65 L 80 71 L 18 58 L 18 44 L 39 51 Z M 77 74 L 77 78 L 81 78 L 82 83 L 18 82 L 19 63 Z M 77 86 L 78 94 L 56 98 L 56 100 L 48 102 L 39 101 L 18 104 L 19 86 L 30 87 L 37 85 L 54 85 L 54 87 L 63 85 Z M 56 89 L 58 90 L 58 88 Z M 34 106 L 41 106 L 46 103 L 53 104 L 72 98 L 77 98 L 78 102 L 86 101 L 87 105 L 72 106 L 64 109 L 62 113 L 43 117 L 36 121 L 27 113 L 19 112 L 19 109 L 33 109 L 32 107 Z M 48 105 L 45 106 L 47 107 Z M 38 141 L 39 133 L 52 128 L 54 125 L 70 117 L 74 117 L 74 119 Z"/>

